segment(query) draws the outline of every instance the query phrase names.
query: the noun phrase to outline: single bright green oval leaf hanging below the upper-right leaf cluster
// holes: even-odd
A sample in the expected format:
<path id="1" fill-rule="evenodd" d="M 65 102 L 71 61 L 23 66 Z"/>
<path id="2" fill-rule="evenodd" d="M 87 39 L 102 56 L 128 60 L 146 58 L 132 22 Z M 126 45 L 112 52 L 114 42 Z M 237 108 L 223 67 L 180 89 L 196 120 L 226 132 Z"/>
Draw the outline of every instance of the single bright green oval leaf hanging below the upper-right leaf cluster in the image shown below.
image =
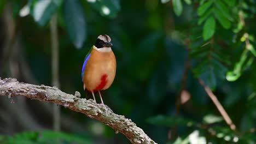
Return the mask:
<path id="1" fill-rule="evenodd" d="M 212 16 L 206 20 L 205 25 L 203 25 L 203 39 L 204 40 L 208 40 L 208 39 L 212 38 L 212 36 L 215 32 L 215 25 L 216 25 L 216 21 Z"/>

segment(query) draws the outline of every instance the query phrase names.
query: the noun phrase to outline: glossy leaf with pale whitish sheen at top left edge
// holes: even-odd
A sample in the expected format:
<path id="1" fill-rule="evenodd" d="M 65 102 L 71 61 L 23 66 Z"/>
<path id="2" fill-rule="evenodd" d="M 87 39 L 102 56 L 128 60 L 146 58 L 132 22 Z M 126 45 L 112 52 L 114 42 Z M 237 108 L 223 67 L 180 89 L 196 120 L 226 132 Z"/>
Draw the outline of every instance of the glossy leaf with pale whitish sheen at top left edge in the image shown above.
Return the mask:
<path id="1" fill-rule="evenodd" d="M 40 26 L 45 26 L 60 7 L 62 0 L 39 0 L 34 1 L 32 15 L 34 21 Z"/>

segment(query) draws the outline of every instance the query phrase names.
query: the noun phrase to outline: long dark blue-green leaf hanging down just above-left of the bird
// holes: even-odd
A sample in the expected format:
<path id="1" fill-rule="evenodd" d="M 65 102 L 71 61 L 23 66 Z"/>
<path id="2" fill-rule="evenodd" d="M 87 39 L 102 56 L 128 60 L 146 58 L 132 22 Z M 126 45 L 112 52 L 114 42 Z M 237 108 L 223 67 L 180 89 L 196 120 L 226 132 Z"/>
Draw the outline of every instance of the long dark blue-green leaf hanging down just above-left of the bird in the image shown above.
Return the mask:
<path id="1" fill-rule="evenodd" d="M 64 18 L 73 44 L 81 48 L 86 38 L 86 21 L 82 4 L 78 0 L 65 0 Z"/>

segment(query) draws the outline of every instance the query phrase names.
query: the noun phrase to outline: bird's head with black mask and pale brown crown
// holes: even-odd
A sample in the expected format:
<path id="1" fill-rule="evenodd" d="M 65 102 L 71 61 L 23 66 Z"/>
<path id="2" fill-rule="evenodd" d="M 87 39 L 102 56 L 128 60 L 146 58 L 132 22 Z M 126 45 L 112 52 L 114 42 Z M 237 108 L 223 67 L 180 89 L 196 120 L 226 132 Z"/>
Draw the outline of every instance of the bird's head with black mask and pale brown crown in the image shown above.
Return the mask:
<path id="1" fill-rule="evenodd" d="M 94 46 L 96 46 L 98 49 L 102 47 L 111 47 L 113 46 L 112 43 L 110 43 L 111 39 L 107 34 L 98 36 L 96 43 Z"/>

